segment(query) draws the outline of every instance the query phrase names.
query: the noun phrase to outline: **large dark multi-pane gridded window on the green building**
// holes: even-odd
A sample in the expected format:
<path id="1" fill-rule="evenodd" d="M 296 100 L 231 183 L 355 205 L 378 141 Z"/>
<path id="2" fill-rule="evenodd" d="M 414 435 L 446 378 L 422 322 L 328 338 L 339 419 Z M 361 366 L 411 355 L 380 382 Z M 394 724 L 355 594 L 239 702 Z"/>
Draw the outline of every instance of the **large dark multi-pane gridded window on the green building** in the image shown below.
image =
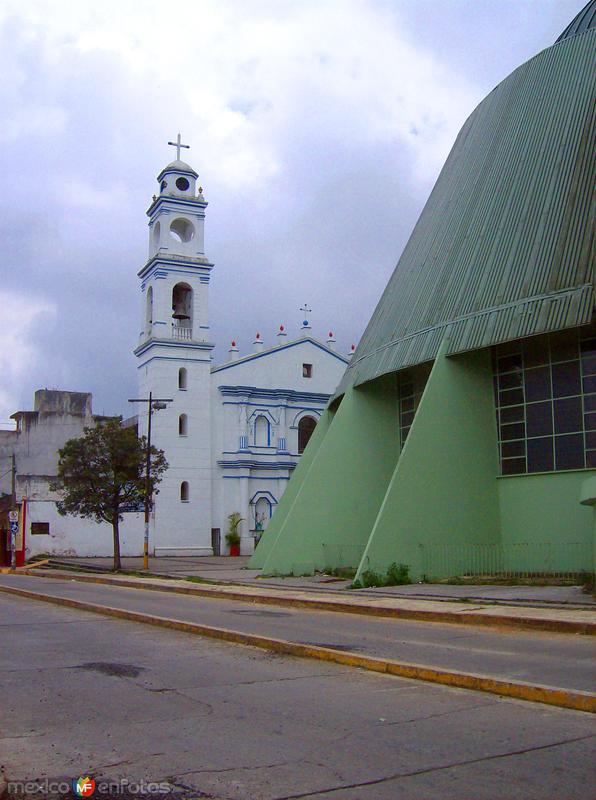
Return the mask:
<path id="1" fill-rule="evenodd" d="M 501 473 L 596 467 L 596 329 L 494 350 Z"/>

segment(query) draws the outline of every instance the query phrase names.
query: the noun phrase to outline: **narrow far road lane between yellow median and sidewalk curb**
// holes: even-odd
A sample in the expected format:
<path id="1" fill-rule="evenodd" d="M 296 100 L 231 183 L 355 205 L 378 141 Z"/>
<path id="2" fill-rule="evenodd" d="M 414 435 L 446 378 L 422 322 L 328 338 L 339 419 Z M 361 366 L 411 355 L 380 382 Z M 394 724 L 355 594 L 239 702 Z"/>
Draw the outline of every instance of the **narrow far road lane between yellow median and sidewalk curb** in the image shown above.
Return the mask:
<path id="1" fill-rule="evenodd" d="M 25 575 L 1 575 L 2 585 L 426 666 L 564 689 L 596 686 L 596 642 L 589 636 L 289 609 Z"/>

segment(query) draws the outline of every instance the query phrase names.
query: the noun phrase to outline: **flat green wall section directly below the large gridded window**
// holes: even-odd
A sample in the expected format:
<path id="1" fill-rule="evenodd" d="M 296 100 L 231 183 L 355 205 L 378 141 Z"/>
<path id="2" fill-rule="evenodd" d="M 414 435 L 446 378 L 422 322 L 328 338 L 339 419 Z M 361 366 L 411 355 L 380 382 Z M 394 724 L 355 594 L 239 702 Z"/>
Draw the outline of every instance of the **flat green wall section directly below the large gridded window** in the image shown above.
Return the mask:
<path id="1" fill-rule="evenodd" d="M 497 481 L 505 568 L 594 569 L 594 521 L 580 505 L 582 484 L 595 470 L 503 477 Z"/>

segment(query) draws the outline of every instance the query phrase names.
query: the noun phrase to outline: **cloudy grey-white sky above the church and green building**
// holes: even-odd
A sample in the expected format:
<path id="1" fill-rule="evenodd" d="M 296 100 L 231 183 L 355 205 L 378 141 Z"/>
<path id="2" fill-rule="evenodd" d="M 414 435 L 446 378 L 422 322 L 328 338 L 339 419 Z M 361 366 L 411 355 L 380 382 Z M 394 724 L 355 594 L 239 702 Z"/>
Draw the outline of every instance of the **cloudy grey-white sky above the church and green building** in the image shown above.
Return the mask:
<path id="1" fill-rule="evenodd" d="M 130 413 L 145 210 L 182 131 L 211 324 L 361 335 L 463 121 L 582 0 L 4 0 L 0 421 Z"/>

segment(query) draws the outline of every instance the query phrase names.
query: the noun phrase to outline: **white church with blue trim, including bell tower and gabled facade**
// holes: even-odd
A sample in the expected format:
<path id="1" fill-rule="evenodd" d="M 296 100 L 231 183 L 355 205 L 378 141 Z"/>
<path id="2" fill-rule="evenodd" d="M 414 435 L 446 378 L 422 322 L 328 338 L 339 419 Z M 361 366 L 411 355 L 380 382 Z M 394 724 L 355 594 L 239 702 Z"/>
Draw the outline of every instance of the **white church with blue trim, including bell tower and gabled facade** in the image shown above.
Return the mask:
<path id="1" fill-rule="evenodd" d="M 243 519 L 241 552 L 252 552 L 349 360 L 334 350 L 333 334 L 318 341 L 304 319 L 296 339 L 280 326 L 265 347 L 257 333 L 253 352 L 240 358 L 232 342 L 228 360 L 214 365 L 213 264 L 197 179 L 179 159 L 158 175 L 147 211 L 149 258 L 139 272 L 139 398 L 151 392 L 165 401 L 152 414 L 152 443 L 170 465 L 155 502 L 156 555 L 226 552 L 233 512 Z M 140 404 L 140 433 L 147 414 L 148 403 Z"/>

